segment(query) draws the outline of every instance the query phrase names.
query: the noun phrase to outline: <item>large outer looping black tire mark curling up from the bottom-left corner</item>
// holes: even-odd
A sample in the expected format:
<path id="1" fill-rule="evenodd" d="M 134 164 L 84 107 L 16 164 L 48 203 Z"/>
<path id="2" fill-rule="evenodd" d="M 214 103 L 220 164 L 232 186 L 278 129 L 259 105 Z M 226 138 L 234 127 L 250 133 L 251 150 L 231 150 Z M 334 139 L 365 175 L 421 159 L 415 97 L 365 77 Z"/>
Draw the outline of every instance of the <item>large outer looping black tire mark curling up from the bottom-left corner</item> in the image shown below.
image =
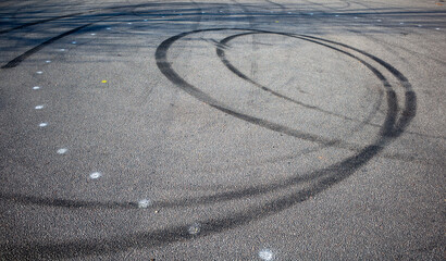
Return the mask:
<path id="1" fill-rule="evenodd" d="M 386 96 L 387 102 L 389 105 L 389 110 L 387 112 L 386 120 L 381 129 L 381 136 L 376 138 L 374 142 L 369 146 L 363 147 L 360 151 L 358 151 L 355 156 L 348 157 L 347 159 L 334 163 L 329 167 L 317 170 L 311 173 L 308 173 L 305 176 L 295 176 L 289 179 L 285 179 L 274 184 L 274 186 L 256 186 L 248 188 L 246 190 L 231 191 L 227 192 L 226 196 L 231 196 L 234 194 L 235 197 L 230 197 L 224 199 L 223 195 L 214 196 L 216 200 L 228 200 L 228 199 L 238 199 L 246 195 L 258 195 L 260 192 L 267 192 L 269 189 L 281 189 L 284 187 L 293 186 L 303 179 L 306 182 L 311 181 L 312 183 L 305 189 L 295 190 L 288 195 L 272 199 L 268 202 L 259 207 L 253 207 L 245 211 L 232 213 L 224 215 L 219 219 L 209 219 L 205 221 L 200 221 L 200 232 L 198 234 L 190 234 L 190 227 L 187 225 L 178 225 L 178 226 L 171 226 L 166 227 L 165 229 L 158 229 L 152 232 L 141 232 L 141 233 L 134 233 L 127 236 L 116 236 L 111 238 L 106 238 L 100 241 L 92 240 L 92 239 L 85 239 L 85 240 L 72 240 L 65 241 L 61 244 L 28 244 L 28 245 L 5 245 L 1 246 L 0 249 L 2 257 L 14 258 L 14 259 L 30 259 L 30 258 L 75 258 L 75 257 L 85 257 L 89 254 L 100 254 L 100 253 L 112 253 L 119 251 L 125 251 L 129 248 L 147 248 L 153 246 L 160 246 L 169 243 L 191 239 L 197 237 L 203 237 L 211 234 L 220 233 L 230 228 L 234 228 L 240 225 L 246 225 L 252 221 L 257 221 L 263 219 L 268 215 L 275 214 L 280 211 L 283 211 L 287 208 L 295 206 L 298 202 L 307 200 L 309 197 L 314 196 L 326 188 L 344 181 L 345 178 L 349 177 L 354 174 L 360 166 L 364 165 L 369 162 L 373 157 L 380 153 L 385 146 L 391 142 L 393 139 L 398 137 L 410 123 L 410 121 L 416 115 L 417 109 L 417 97 L 416 94 L 411 90 L 411 86 L 407 78 L 399 73 L 396 69 L 394 69 L 388 63 L 382 61 L 379 58 L 375 58 L 369 53 L 366 53 L 361 50 L 348 47 L 344 44 L 334 42 L 330 40 L 325 40 L 322 38 L 315 38 L 310 36 L 302 36 L 302 35 L 293 35 L 293 34 L 285 34 L 285 33 L 274 33 L 274 32 L 264 32 L 264 30 L 252 30 L 252 29 L 233 29 L 233 28 L 216 28 L 216 29 L 201 29 L 201 30 L 193 30 L 188 33 L 183 33 L 177 36 L 171 37 L 164 40 L 157 49 L 156 52 L 156 60 L 157 65 L 160 71 L 175 85 L 182 88 L 187 94 L 194 96 L 196 99 L 203 101 L 208 105 L 218 109 L 224 113 L 233 115 L 237 119 L 244 120 L 246 122 L 257 124 L 259 126 L 269 128 L 275 132 L 282 132 L 288 134 L 294 137 L 305 138 L 308 140 L 317 141 L 317 142 L 334 142 L 333 140 L 322 139 L 311 134 L 305 134 L 298 132 L 296 129 L 289 129 L 285 126 L 281 126 L 278 124 L 274 124 L 271 122 L 267 122 L 261 119 L 257 119 L 240 112 L 237 112 L 231 108 L 227 108 L 225 104 L 221 103 L 220 101 L 215 100 L 214 98 L 210 97 L 199 88 L 188 84 L 173 69 L 171 63 L 169 62 L 166 54 L 172 46 L 173 42 L 176 40 L 197 33 L 202 32 L 215 32 L 215 30 L 241 30 L 241 32 L 256 32 L 258 34 L 277 34 L 284 35 L 289 37 L 302 37 L 308 38 L 314 41 L 323 41 L 329 45 L 337 45 L 343 46 L 347 49 L 360 52 L 372 60 L 380 63 L 383 67 L 389 71 L 401 84 L 401 86 L 406 89 L 405 94 L 405 105 L 402 112 L 398 117 L 398 108 L 396 103 L 396 94 L 392 90 L 392 86 L 387 83 L 387 80 L 382 76 L 381 73 L 374 67 L 369 67 L 372 70 L 377 78 L 383 83 L 386 88 Z M 364 64 L 366 65 L 366 64 Z M 366 65 L 367 66 L 367 65 Z M 371 66 L 371 65 L 370 65 Z M 381 75 L 381 76 L 380 76 Z M 243 191 L 243 192 L 240 192 Z M 208 197 L 211 198 L 211 197 Z M 209 201 L 210 202 L 210 201 Z M 197 200 L 194 203 L 200 203 Z M 125 207 L 125 206 L 122 206 Z"/>

